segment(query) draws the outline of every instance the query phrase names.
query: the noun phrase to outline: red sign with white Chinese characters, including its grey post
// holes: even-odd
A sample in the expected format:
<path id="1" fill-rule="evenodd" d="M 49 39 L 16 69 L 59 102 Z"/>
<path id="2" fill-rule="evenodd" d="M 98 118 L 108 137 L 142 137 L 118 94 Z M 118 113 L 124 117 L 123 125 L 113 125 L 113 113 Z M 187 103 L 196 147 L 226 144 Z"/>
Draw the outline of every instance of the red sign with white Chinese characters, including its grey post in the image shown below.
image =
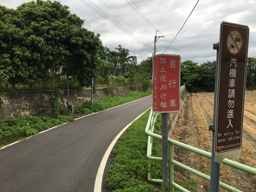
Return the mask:
<path id="1" fill-rule="evenodd" d="M 153 56 L 154 112 L 162 113 L 162 176 L 163 186 L 168 186 L 168 113 L 180 111 L 180 55 Z"/>

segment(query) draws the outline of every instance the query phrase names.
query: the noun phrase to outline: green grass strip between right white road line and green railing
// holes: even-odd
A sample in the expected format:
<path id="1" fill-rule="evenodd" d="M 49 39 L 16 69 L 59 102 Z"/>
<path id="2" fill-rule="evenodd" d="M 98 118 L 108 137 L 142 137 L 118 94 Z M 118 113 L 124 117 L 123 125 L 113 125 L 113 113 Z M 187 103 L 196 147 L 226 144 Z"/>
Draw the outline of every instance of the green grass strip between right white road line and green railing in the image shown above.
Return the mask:
<path id="1" fill-rule="evenodd" d="M 146 158 L 147 135 L 146 121 L 149 111 L 135 121 L 124 133 L 116 149 L 113 150 L 113 163 L 110 165 L 105 185 L 111 191 L 152 191 L 160 192 L 148 181 L 148 163 Z M 154 167 L 154 166 L 152 166 Z M 161 165 L 156 170 L 161 177 Z"/>

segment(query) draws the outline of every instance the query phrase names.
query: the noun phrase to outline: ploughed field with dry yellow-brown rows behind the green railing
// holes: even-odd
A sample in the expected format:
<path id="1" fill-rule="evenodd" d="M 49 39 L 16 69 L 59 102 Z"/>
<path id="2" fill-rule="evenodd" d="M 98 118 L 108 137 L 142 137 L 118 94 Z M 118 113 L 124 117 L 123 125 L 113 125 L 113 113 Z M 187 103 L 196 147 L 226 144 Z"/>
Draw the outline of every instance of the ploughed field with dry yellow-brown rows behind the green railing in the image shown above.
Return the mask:
<path id="1" fill-rule="evenodd" d="M 170 135 L 175 139 L 199 149 L 211 152 L 212 132 L 208 126 L 213 123 L 214 93 L 188 95 L 177 123 Z M 235 160 L 256 168 L 256 92 L 246 92 L 241 158 Z M 210 159 L 174 146 L 175 160 L 210 176 Z M 209 191 L 210 183 L 175 166 L 179 179 L 193 178 L 198 182 L 199 192 Z M 256 176 L 222 164 L 220 181 L 244 192 L 256 192 Z M 220 187 L 220 191 L 226 191 Z"/>

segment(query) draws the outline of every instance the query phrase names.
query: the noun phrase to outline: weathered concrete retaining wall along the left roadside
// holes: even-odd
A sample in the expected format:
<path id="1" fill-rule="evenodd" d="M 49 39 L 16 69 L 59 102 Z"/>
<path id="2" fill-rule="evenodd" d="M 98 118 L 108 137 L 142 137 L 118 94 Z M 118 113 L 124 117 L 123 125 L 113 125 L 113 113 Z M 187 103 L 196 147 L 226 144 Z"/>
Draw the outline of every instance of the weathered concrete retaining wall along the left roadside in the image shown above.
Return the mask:
<path id="1" fill-rule="evenodd" d="M 60 98 L 61 108 L 67 108 L 67 91 Z M 131 91 L 130 87 L 116 87 L 117 96 L 124 96 Z M 21 116 L 49 116 L 52 108 L 49 99 L 52 98 L 52 91 L 12 91 L 6 92 L 4 104 L 0 110 L 0 119 L 6 120 L 10 117 Z M 107 88 L 97 88 L 94 100 L 101 96 L 107 96 Z M 74 108 L 83 102 L 91 100 L 91 89 L 69 90 L 69 105 Z"/>

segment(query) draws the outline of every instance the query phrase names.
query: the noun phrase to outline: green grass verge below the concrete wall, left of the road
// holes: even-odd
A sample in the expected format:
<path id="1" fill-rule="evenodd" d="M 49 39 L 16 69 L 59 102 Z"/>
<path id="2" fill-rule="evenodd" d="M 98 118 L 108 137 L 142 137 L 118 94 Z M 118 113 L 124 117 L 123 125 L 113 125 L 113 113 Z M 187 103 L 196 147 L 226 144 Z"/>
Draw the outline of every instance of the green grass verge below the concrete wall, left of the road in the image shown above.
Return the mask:
<path id="1" fill-rule="evenodd" d="M 30 137 L 43 130 L 74 121 L 75 117 L 106 110 L 149 95 L 151 95 L 150 91 L 130 92 L 124 97 L 102 97 L 94 101 L 94 106 L 91 105 L 91 102 L 85 102 L 84 105 L 75 110 L 76 114 L 60 115 L 57 118 L 26 116 L 0 121 L 0 147 Z"/>

